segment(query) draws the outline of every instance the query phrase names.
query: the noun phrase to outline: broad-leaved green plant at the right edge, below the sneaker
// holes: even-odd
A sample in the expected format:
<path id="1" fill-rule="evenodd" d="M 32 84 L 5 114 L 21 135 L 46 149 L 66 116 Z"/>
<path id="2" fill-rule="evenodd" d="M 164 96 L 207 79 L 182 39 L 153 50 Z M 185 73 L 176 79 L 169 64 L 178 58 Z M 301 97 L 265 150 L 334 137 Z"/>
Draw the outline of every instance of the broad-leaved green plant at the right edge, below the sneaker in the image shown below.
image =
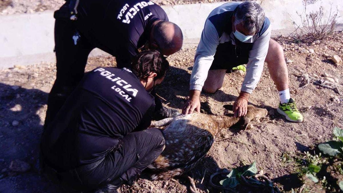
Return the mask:
<path id="1" fill-rule="evenodd" d="M 325 143 L 319 144 L 318 148 L 323 154 L 329 156 L 342 155 L 343 152 L 343 129 L 335 127 L 333 128 L 334 140 L 327 141 Z"/>

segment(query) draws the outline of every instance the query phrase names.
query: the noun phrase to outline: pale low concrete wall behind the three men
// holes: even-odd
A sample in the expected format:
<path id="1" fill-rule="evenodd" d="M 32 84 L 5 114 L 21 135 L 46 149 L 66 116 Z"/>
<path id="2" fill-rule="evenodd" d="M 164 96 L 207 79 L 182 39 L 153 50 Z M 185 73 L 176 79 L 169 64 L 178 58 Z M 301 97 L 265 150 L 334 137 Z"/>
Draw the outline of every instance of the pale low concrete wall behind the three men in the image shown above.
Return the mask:
<path id="1" fill-rule="evenodd" d="M 260 1 L 261 2 L 261 1 Z M 223 2 L 162 6 L 169 20 L 178 24 L 184 32 L 185 39 L 199 38 L 208 14 Z M 339 9 L 343 16 L 342 0 L 319 0 L 307 6 L 307 12 L 318 10 L 322 5 L 326 12 Z M 262 0 L 262 7 L 272 22 L 272 29 L 293 27 L 292 21 L 299 24 L 296 11 L 302 12 L 302 0 Z M 55 62 L 54 18 L 53 12 L 0 16 L 0 67 L 28 65 L 40 61 Z M 328 14 L 326 14 L 328 15 Z M 324 18 L 325 20 L 326 18 Z M 338 23 L 343 23 L 339 17 Z M 94 50 L 91 56 L 104 54 Z"/>

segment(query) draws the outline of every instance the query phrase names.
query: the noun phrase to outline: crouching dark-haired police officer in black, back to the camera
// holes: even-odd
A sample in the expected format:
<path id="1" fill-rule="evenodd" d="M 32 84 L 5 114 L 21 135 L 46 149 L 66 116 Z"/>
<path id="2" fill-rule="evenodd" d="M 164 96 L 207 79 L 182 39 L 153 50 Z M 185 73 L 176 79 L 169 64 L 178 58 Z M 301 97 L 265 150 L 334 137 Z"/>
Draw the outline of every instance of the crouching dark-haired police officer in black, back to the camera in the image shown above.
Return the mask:
<path id="1" fill-rule="evenodd" d="M 96 68 L 85 75 L 43 132 L 45 172 L 82 192 L 132 184 L 164 149 L 162 132 L 148 128 L 155 109 L 149 91 L 168 67 L 163 55 L 147 50 L 131 69 Z"/>

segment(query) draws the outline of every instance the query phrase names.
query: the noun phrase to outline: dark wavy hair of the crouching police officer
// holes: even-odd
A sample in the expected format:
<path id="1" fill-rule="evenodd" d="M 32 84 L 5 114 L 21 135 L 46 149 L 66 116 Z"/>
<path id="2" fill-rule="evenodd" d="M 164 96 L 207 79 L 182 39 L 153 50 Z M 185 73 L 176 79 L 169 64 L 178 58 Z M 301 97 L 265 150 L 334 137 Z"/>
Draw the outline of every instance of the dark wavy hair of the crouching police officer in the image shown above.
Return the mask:
<path id="1" fill-rule="evenodd" d="M 157 50 L 145 50 L 137 54 L 132 60 L 132 72 L 139 79 L 147 79 L 150 73 L 155 72 L 155 79 L 166 76 L 169 68 L 167 59 Z"/>

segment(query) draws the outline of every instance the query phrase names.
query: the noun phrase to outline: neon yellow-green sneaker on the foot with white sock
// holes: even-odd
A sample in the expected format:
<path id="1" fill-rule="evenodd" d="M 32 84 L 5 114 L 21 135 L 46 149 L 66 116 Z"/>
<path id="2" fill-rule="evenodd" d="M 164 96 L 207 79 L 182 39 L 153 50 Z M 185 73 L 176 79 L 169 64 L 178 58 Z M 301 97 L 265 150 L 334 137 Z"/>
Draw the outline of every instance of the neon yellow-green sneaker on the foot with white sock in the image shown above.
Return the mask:
<path id="1" fill-rule="evenodd" d="M 299 113 L 297 105 L 292 98 L 289 99 L 288 103 L 280 103 L 277 112 L 284 115 L 288 121 L 296 123 L 303 122 L 303 115 Z"/>

